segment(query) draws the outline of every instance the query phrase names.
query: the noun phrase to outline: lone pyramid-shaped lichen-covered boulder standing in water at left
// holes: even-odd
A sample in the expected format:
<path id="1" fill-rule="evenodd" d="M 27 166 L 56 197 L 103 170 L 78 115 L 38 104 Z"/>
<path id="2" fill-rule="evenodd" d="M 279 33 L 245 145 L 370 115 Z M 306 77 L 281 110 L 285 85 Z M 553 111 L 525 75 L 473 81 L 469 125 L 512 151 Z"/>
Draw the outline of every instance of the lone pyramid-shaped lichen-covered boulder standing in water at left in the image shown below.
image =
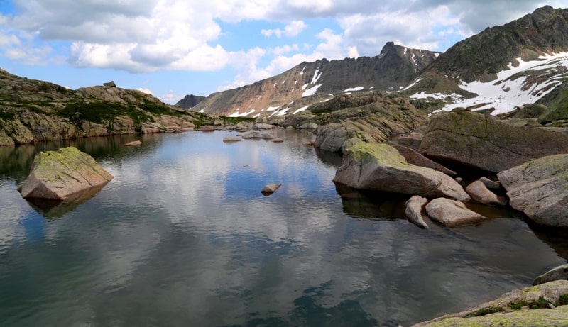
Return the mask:
<path id="1" fill-rule="evenodd" d="M 26 199 L 65 201 L 113 178 L 93 157 L 69 147 L 35 156 L 31 172 L 18 191 Z"/>

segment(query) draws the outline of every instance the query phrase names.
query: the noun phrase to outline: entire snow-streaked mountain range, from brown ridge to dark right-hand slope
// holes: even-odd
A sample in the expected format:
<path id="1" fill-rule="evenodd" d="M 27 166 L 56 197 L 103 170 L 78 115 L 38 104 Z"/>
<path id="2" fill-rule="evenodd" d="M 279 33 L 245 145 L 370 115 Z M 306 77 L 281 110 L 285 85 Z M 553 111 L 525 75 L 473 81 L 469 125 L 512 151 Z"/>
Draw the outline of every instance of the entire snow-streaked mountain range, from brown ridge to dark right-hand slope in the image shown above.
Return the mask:
<path id="1" fill-rule="evenodd" d="M 428 112 L 464 106 L 497 114 L 535 102 L 565 104 L 567 77 L 568 9 L 544 6 L 444 53 L 389 42 L 376 57 L 302 62 L 274 77 L 211 94 L 190 110 L 267 118 L 310 110 L 339 94 L 400 92 Z"/>

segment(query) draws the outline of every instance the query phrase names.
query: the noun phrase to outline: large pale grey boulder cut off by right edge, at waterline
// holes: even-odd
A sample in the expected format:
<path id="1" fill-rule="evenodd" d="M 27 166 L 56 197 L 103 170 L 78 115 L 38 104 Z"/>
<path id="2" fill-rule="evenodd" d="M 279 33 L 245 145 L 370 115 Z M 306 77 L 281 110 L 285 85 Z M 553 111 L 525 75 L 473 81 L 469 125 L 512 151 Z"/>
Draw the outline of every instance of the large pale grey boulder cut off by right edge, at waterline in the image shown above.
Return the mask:
<path id="1" fill-rule="evenodd" d="M 540 225 L 568 226 L 568 154 L 529 160 L 497 178 L 513 209 Z"/>

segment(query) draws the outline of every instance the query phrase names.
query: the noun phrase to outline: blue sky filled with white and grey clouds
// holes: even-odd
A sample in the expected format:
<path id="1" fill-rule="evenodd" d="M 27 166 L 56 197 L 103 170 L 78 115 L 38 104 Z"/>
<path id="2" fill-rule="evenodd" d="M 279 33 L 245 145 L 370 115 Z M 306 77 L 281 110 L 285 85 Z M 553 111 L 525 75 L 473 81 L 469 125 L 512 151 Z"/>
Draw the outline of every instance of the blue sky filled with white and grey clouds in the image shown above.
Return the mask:
<path id="1" fill-rule="evenodd" d="M 444 51 L 568 1 L 0 0 L 0 68 L 77 89 L 114 80 L 175 103 L 388 41 Z"/>

